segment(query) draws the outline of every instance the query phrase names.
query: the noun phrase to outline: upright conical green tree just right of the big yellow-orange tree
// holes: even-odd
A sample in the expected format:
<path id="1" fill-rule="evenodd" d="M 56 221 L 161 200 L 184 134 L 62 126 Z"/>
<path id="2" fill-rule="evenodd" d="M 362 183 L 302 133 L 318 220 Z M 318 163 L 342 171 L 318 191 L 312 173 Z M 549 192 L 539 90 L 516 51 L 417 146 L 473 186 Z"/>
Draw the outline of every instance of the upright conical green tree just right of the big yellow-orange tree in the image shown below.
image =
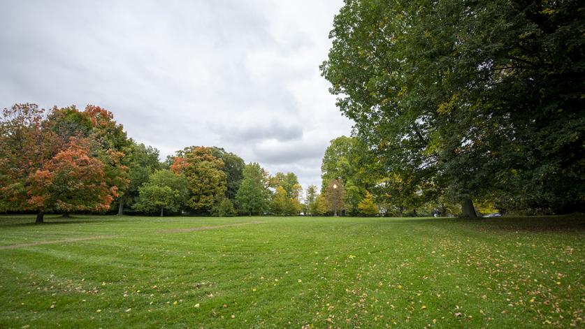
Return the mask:
<path id="1" fill-rule="evenodd" d="M 240 210 L 248 214 L 263 214 L 268 210 L 270 190 L 269 178 L 258 163 L 249 163 L 244 167 L 243 180 L 236 193 L 236 203 Z"/>

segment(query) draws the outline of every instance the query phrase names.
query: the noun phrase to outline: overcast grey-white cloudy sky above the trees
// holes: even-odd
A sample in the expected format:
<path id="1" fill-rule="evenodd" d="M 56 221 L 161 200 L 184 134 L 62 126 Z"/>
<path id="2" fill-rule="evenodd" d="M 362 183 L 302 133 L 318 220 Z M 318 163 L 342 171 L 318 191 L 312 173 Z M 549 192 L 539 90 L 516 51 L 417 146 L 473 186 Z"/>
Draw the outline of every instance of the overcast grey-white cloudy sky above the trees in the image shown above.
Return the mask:
<path id="1" fill-rule="evenodd" d="M 342 0 L 0 1 L 0 107 L 107 108 L 161 158 L 216 145 L 320 185 L 352 123 L 319 75 Z"/>

